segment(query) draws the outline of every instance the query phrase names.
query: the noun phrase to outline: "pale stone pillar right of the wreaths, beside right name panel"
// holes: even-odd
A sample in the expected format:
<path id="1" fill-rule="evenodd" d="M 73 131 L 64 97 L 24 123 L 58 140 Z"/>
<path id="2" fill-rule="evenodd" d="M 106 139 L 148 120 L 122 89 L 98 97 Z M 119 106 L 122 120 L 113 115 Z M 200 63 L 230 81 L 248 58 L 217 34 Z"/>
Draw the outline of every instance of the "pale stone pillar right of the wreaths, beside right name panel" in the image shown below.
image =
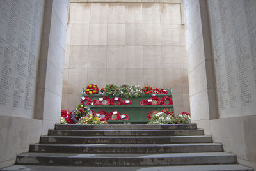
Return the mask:
<path id="1" fill-rule="evenodd" d="M 218 118 L 206 1 L 182 1 L 189 61 L 191 117 L 198 125 Z M 205 127 L 205 126 L 203 126 Z M 208 127 L 209 128 L 209 127 Z M 209 130 L 205 130 L 209 133 Z"/>

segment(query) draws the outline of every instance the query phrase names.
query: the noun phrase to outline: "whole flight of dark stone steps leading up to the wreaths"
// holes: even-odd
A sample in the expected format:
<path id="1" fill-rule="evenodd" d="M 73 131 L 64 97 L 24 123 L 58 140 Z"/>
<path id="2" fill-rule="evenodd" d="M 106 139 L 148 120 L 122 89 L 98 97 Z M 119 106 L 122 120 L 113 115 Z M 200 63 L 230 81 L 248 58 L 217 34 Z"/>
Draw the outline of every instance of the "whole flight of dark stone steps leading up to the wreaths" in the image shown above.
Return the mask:
<path id="1" fill-rule="evenodd" d="M 3 170 L 252 170 L 196 124 L 61 125 Z"/>

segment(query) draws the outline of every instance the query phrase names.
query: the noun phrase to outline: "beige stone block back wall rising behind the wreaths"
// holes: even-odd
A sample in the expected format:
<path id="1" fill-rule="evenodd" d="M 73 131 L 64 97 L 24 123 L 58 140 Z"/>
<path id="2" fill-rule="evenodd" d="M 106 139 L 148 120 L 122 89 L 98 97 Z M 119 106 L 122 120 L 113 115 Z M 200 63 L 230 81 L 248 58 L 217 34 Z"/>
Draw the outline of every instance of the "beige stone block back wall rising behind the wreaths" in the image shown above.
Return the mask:
<path id="1" fill-rule="evenodd" d="M 88 83 L 173 89 L 189 112 L 188 63 L 180 3 L 70 3 L 62 108 Z"/>

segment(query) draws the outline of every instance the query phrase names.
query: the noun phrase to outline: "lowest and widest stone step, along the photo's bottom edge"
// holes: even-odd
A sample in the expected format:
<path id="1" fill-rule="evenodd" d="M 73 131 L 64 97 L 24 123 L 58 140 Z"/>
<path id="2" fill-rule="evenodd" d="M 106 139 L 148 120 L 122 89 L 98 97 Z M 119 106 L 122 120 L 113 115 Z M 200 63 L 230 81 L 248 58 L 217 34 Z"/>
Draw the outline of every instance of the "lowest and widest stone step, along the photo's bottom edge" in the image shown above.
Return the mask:
<path id="1" fill-rule="evenodd" d="M 11 167 L 3 168 L 3 171 L 19 171 L 19 170 L 30 170 L 30 171 L 253 171 L 252 168 L 244 167 L 243 165 L 237 164 L 226 164 L 226 165 L 186 165 L 186 166 L 155 166 L 155 167 L 70 167 L 70 166 L 35 166 L 35 165 L 12 165 Z"/>

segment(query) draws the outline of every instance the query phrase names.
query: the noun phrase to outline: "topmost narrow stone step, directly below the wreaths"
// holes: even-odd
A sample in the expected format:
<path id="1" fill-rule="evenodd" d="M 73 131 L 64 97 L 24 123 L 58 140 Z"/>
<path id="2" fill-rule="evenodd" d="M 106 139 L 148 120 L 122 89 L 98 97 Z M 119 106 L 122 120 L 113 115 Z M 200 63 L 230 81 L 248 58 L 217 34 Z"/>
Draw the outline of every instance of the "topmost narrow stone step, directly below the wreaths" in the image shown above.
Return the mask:
<path id="1" fill-rule="evenodd" d="M 55 124 L 56 130 L 196 130 L 193 124 L 105 124 L 105 125 L 79 125 Z"/>

